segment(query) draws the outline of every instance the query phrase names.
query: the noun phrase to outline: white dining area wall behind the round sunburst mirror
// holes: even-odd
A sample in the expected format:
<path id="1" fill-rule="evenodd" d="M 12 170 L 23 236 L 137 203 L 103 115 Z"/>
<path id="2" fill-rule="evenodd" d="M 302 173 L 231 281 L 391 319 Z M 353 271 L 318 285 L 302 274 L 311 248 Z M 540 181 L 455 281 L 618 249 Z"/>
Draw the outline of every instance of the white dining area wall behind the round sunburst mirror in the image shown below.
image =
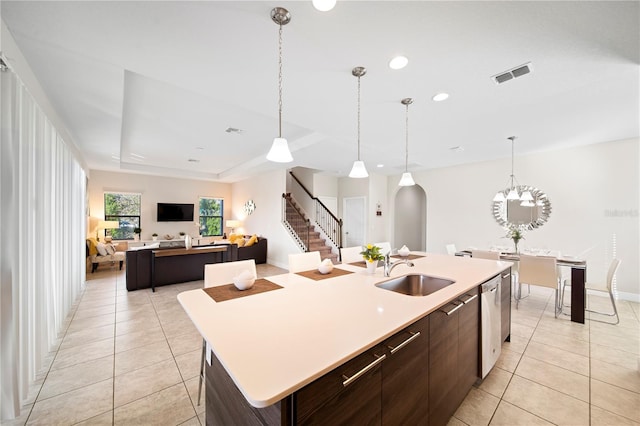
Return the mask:
<path id="1" fill-rule="evenodd" d="M 623 262 L 621 297 L 640 299 L 639 145 L 631 139 L 517 156 L 516 178 L 546 192 L 552 207 L 549 222 L 527 232 L 521 248 L 586 251 L 589 280 L 604 279 L 615 255 Z M 491 200 L 510 170 L 505 158 L 414 173 L 427 193 L 427 250 L 445 253 L 448 243 L 459 249 L 509 245 Z"/>

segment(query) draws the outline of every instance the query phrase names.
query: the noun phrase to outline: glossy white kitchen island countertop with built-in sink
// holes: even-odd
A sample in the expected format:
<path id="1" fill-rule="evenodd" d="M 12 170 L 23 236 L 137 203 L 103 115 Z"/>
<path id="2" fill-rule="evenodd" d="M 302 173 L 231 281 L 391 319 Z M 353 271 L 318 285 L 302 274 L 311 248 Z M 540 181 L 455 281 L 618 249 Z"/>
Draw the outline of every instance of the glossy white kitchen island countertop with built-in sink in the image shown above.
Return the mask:
<path id="1" fill-rule="evenodd" d="M 414 254 L 424 254 L 413 252 Z M 266 407 L 499 274 L 511 262 L 426 254 L 391 276 L 425 273 L 456 282 L 414 297 L 376 287 L 382 267 L 314 281 L 266 277 L 282 289 L 216 303 L 201 289 L 178 295 L 198 331 L 254 407 Z"/>

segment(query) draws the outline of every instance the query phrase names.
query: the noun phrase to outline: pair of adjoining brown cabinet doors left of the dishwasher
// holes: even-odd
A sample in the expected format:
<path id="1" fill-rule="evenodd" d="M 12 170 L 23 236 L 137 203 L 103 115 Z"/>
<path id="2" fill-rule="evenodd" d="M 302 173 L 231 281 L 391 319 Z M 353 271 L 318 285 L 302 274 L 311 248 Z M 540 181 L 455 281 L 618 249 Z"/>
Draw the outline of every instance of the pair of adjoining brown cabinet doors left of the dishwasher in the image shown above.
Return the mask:
<path id="1" fill-rule="evenodd" d="M 446 425 L 478 379 L 479 307 L 474 289 L 429 315 L 431 426 Z"/>

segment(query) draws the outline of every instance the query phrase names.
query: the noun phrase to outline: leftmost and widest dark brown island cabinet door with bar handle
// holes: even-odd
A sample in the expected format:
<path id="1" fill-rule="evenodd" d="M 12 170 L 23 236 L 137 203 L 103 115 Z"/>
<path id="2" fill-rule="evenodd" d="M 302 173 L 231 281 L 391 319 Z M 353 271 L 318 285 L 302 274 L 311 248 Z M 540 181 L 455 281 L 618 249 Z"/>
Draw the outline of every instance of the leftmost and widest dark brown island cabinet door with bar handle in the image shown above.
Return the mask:
<path id="1" fill-rule="evenodd" d="M 379 425 L 385 358 L 376 347 L 296 392 L 298 424 Z"/>

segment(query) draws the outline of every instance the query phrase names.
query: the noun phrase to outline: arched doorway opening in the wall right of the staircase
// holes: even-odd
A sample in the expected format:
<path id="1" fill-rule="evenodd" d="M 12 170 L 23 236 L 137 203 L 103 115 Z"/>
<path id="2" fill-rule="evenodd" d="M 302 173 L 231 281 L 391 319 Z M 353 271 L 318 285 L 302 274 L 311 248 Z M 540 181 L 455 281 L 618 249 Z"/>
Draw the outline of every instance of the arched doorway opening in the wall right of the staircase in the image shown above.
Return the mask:
<path id="1" fill-rule="evenodd" d="M 427 249 L 427 194 L 420 185 L 403 186 L 394 200 L 394 244 L 411 250 Z"/>

